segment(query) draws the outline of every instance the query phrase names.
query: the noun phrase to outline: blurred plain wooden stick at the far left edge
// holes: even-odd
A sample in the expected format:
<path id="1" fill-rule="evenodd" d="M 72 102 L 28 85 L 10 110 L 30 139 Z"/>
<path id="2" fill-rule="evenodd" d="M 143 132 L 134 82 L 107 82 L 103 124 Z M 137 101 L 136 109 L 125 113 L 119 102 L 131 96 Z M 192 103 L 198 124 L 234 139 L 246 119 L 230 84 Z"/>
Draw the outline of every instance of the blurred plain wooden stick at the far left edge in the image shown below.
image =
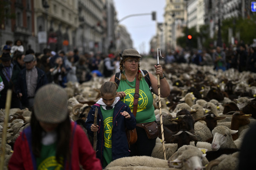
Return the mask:
<path id="1" fill-rule="evenodd" d="M 7 123 L 9 119 L 9 110 L 11 107 L 11 99 L 12 99 L 12 90 L 7 90 L 7 97 L 5 102 L 5 117 L 4 117 L 4 127 L 2 133 L 2 144 L 1 144 L 1 157 L 0 157 L 0 170 L 4 169 L 4 158 L 5 158 L 5 143 L 6 143 L 6 133 L 7 133 Z"/>

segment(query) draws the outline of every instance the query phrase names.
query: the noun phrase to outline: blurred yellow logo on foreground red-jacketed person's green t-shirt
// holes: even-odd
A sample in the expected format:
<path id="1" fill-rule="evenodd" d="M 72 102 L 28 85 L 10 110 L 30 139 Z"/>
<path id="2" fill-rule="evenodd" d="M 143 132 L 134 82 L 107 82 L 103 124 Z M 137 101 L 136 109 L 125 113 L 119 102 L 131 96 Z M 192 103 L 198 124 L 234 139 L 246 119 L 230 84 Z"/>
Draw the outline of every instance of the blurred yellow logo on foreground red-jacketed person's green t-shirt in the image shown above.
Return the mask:
<path id="1" fill-rule="evenodd" d="M 60 158 L 61 164 L 56 160 L 55 156 L 50 156 L 40 163 L 37 170 L 62 170 L 63 169 L 63 158 Z"/>

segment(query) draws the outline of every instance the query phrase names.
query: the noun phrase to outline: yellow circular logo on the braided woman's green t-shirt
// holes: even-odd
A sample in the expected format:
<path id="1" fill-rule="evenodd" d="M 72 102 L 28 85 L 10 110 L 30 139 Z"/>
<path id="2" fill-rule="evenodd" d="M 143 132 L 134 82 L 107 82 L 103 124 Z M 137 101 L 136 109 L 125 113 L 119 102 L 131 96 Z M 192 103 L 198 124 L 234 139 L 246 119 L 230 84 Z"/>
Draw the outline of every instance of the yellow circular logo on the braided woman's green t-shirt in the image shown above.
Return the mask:
<path id="1" fill-rule="evenodd" d="M 133 112 L 133 100 L 134 100 L 133 95 L 135 94 L 135 89 L 128 89 L 128 90 L 125 90 L 124 92 L 125 92 L 126 96 L 122 100 L 125 103 L 129 103 L 128 106 L 130 107 L 131 111 Z M 147 105 L 147 102 L 148 102 L 147 96 L 142 90 L 139 91 L 139 95 L 140 95 L 140 97 L 138 99 L 137 113 L 144 110 L 145 106 Z"/>

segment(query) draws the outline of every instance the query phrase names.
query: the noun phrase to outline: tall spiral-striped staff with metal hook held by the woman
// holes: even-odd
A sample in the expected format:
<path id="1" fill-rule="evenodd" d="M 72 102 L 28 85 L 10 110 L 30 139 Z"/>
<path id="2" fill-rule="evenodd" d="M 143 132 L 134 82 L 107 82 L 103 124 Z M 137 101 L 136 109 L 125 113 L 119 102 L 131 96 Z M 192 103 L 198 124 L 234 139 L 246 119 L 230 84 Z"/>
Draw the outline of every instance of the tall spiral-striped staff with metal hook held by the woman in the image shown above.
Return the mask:
<path id="1" fill-rule="evenodd" d="M 157 66 L 159 65 L 158 50 L 160 52 L 160 57 L 162 57 L 161 56 L 161 50 L 158 48 L 157 49 Z M 163 144 L 163 156 L 165 157 L 165 160 L 166 160 L 165 142 L 164 142 L 165 141 L 165 137 L 163 135 L 163 120 L 162 120 L 162 111 L 161 111 L 160 77 L 159 77 L 159 75 L 157 75 L 157 87 L 158 87 L 158 105 L 159 105 L 159 114 L 160 114 L 161 135 L 162 135 L 162 144 Z"/>

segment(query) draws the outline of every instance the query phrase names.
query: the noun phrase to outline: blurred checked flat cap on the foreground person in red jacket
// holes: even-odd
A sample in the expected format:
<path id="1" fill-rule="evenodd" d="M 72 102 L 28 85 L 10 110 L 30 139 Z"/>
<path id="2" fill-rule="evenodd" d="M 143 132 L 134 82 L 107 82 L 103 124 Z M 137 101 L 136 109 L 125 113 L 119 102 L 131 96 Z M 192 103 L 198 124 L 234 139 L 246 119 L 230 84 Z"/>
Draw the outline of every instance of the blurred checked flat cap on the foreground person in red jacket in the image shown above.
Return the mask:
<path id="1" fill-rule="evenodd" d="M 34 113 L 38 121 L 60 123 L 68 115 L 68 95 L 64 88 L 47 84 L 39 88 L 34 99 Z"/>

